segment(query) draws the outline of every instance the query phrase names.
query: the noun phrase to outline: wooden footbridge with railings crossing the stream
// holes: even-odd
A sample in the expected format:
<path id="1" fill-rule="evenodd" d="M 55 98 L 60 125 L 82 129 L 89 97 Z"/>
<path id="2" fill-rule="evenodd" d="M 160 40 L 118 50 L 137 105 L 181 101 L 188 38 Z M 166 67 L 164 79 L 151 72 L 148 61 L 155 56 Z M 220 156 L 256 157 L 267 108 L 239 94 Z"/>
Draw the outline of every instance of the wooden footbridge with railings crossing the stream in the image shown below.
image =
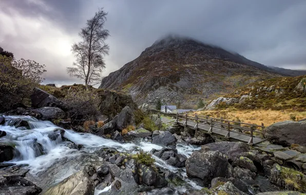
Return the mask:
<path id="1" fill-rule="evenodd" d="M 240 141 L 249 145 L 256 145 L 266 140 L 262 132 L 264 129 L 263 123 L 255 125 L 187 113 L 177 114 L 176 122 L 180 126 L 195 131 L 200 130 L 228 141 Z"/>

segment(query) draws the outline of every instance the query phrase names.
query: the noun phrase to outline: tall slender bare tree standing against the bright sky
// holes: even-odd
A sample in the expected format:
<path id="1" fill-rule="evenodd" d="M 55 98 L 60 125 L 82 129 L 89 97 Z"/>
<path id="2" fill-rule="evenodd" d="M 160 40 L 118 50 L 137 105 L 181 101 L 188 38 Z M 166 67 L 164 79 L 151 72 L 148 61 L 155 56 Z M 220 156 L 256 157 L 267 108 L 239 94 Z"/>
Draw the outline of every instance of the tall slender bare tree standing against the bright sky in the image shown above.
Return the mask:
<path id="1" fill-rule="evenodd" d="M 81 29 L 79 36 L 82 41 L 74 43 L 71 51 L 75 54 L 74 67 L 68 67 L 67 73 L 85 81 L 86 89 L 89 85 L 96 85 L 102 81 L 102 71 L 105 68 L 104 56 L 108 55 L 109 46 L 105 43 L 109 36 L 104 29 L 107 13 L 99 9 L 87 26 Z"/>

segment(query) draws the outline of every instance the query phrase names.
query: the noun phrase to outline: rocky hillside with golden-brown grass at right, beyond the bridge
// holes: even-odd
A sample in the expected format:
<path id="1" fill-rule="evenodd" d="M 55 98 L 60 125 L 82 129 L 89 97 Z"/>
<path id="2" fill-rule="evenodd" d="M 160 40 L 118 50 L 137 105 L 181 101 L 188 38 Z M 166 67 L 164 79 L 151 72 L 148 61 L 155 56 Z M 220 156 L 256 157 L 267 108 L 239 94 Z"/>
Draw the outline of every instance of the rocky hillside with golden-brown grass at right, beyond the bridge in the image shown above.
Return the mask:
<path id="1" fill-rule="evenodd" d="M 306 75 L 250 83 L 209 102 L 206 109 L 293 109 L 306 111 Z"/>

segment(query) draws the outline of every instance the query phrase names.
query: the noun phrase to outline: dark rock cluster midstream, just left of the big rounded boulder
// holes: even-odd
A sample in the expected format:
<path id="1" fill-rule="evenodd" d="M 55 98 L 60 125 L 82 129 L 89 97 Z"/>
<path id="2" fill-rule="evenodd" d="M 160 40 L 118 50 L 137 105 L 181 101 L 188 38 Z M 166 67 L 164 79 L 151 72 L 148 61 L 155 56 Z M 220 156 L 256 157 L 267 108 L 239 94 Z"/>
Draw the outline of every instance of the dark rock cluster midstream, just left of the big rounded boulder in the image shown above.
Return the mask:
<path id="1" fill-rule="evenodd" d="M 161 150 L 152 149 L 151 154 L 164 160 L 168 165 L 175 167 L 185 167 L 187 157 L 183 154 L 178 154 L 177 149 L 162 148 Z"/>

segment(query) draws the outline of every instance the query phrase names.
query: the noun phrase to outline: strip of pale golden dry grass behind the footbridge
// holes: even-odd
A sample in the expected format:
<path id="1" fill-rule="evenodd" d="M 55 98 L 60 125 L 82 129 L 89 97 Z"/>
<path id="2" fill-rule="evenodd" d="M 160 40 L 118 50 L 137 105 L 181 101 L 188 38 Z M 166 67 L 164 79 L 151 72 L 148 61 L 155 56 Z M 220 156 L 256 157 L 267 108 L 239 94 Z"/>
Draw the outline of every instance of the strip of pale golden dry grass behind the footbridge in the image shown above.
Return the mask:
<path id="1" fill-rule="evenodd" d="M 223 110 L 205 110 L 197 111 L 200 115 L 209 115 L 215 118 L 221 118 L 228 120 L 237 120 L 239 118 L 241 122 L 251 123 L 264 126 L 270 126 L 274 123 L 291 120 L 291 116 L 296 116 L 296 119 L 306 119 L 306 111 L 298 112 L 293 110 L 238 110 L 238 109 L 223 109 Z"/>

